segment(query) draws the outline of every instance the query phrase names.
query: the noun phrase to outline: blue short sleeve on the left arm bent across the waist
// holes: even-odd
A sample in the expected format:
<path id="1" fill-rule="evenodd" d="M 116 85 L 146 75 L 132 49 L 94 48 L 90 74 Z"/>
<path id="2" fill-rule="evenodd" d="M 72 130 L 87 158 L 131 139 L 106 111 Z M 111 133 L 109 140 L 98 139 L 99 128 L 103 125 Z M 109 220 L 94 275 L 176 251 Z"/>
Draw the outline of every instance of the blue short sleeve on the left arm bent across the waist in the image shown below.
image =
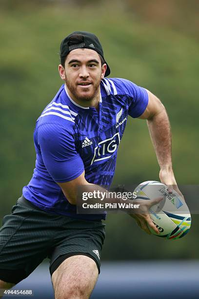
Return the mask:
<path id="1" fill-rule="evenodd" d="M 43 163 L 56 182 L 71 181 L 84 171 L 72 128 L 54 123 L 42 124 L 38 127 L 37 141 Z"/>

